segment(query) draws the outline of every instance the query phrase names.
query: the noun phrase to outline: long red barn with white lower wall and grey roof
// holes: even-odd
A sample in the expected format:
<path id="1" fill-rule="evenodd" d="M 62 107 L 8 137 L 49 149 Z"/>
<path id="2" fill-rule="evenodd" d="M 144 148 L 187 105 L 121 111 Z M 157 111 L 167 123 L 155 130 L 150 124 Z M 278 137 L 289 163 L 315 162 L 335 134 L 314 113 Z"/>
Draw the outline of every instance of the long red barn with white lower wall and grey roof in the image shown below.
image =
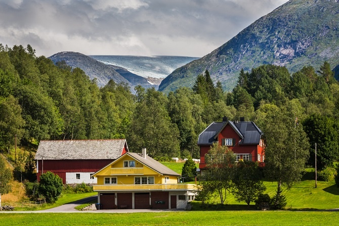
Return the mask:
<path id="1" fill-rule="evenodd" d="M 37 179 L 51 171 L 63 184 L 97 184 L 92 174 L 126 152 L 124 139 L 40 141 L 35 154 Z"/>

